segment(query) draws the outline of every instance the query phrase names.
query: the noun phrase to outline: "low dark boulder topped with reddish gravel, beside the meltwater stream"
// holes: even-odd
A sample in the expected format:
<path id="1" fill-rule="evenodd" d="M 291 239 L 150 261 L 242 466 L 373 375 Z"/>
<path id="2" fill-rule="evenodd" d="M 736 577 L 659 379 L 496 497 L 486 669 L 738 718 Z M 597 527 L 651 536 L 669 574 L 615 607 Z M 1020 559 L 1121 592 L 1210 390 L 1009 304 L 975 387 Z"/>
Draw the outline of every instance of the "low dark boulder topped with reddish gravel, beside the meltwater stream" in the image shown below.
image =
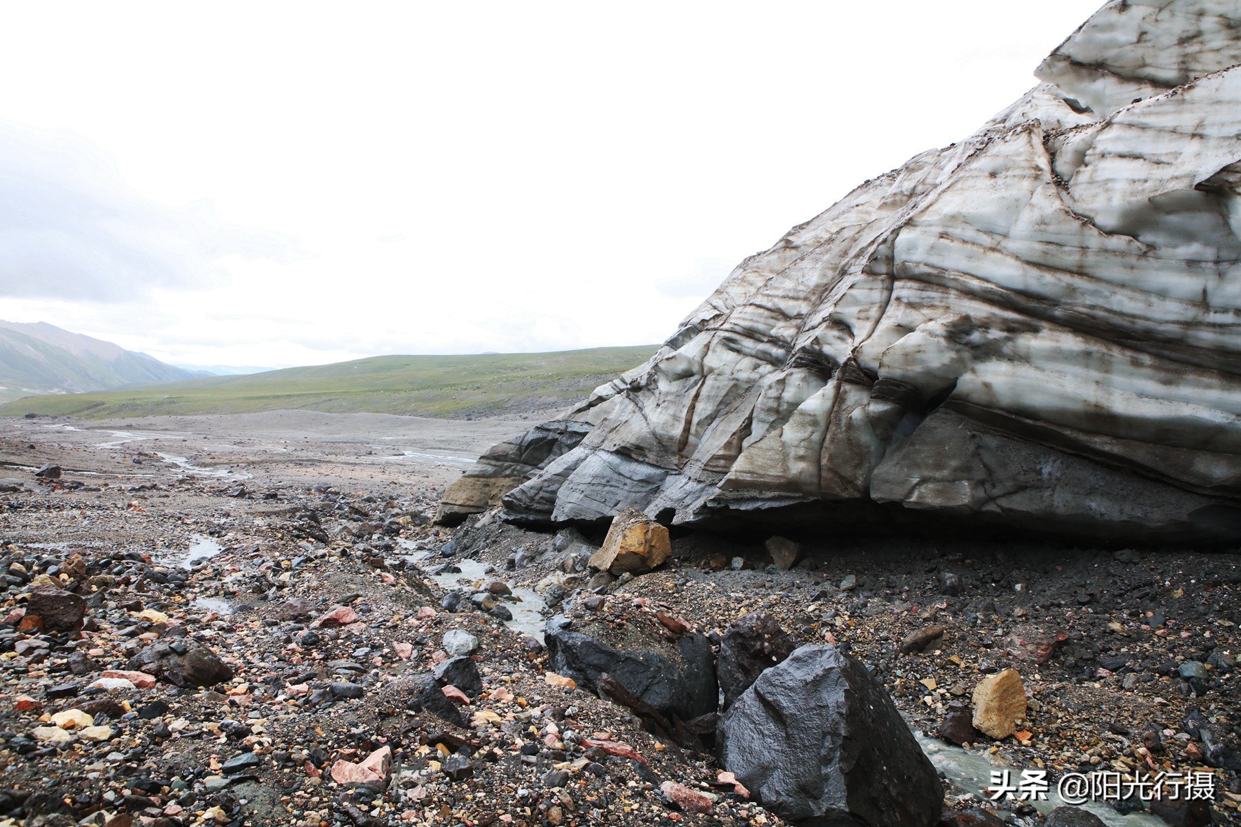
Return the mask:
<path id="1" fill-rule="evenodd" d="M 719 707 L 715 657 L 711 641 L 702 635 L 681 635 L 674 642 L 640 619 L 632 619 L 619 634 L 598 621 L 577 630 L 563 615 L 547 620 L 544 632 L 552 671 L 596 694 L 599 678 L 608 674 L 669 718 L 690 720 Z"/>

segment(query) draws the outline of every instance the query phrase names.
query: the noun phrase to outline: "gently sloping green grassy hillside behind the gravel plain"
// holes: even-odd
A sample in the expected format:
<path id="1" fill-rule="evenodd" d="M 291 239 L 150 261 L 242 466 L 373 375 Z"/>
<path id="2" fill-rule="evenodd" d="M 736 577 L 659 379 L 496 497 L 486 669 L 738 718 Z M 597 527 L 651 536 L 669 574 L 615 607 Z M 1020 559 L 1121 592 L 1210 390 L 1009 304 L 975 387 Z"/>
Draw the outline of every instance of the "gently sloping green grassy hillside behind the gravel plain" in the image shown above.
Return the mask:
<path id="1" fill-rule="evenodd" d="M 0 415 L 89 418 L 251 413 L 294 408 L 463 418 L 567 404 L 640 365 L 655 346 L 557 353 L 376 356 L 99 393 L 27 397 Z"/>

